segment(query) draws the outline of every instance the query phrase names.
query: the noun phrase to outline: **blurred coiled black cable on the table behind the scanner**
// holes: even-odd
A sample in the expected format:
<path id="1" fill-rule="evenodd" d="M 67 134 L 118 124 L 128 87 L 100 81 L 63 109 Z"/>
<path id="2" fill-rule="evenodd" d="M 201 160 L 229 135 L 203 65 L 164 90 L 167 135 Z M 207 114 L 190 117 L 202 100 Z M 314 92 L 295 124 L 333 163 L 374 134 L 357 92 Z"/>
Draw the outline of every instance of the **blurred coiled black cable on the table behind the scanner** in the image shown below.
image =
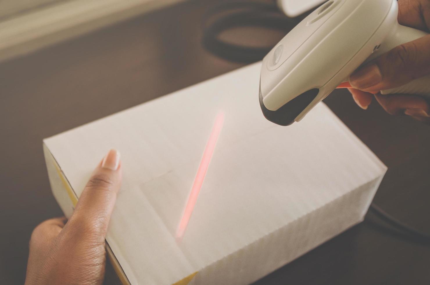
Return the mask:
<path id="1" fill-rule="evenodd" d="M 261 59 L 273 46 L 251 47 L 229 43 L 219 35 L 231 28 L 260 27 L 288 33 L 298 23 L 279 12 L 276 3 L 238 1 L 210 9 L 203 16 L 203 46 L 209 52 L 234 62 L 251 63 Z"/>

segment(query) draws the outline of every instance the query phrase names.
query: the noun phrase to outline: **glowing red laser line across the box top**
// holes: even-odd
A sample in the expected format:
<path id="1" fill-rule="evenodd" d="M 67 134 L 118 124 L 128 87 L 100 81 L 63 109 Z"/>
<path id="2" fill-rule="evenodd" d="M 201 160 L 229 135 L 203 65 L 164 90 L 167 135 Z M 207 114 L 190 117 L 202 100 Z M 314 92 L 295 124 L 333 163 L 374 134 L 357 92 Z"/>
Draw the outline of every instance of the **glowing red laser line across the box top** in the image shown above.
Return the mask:
<path id="1" fill-rule="evenodd" d="M 184 215 L 182 216 L 181 223 L 179 223 L 178 232 L 176 232 L 177 239 L 182 238 L 185 229 L 187 228 L 191 213 L 193 212 L 194 205 L 197 202 L 197 197 L 199 196 L 200 189 L 202 188 L 203 180 L 205 179 L 206 171 L 208 170 L 209 162 L 211 161 L 212 154 L 215 149 L 215 144 L 218 140 L 219 133 L 221 133 L 223 123 L 224 113 L 219 113 L 215 118 L 211 135 L 209 136 L 208 143 L 206 144 L 206 149 L 203 152 L 202 161 L 200 162 L 193 187 L 191 188 L 190 196 L 188 197 L 187 205 L 185 206 Z"/>

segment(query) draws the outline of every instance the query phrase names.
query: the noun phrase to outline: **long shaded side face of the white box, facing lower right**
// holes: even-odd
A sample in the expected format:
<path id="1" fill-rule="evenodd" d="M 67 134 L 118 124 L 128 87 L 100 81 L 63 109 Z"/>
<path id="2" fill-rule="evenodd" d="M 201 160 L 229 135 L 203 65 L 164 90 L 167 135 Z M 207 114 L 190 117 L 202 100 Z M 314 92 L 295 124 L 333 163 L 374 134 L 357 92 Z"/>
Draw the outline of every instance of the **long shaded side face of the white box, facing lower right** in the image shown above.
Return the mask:
<path id="1" fill-rule="evenodd" d="M 249 284 L 360 223 L 381 177 L 200 270 L 190 285 Z"/>

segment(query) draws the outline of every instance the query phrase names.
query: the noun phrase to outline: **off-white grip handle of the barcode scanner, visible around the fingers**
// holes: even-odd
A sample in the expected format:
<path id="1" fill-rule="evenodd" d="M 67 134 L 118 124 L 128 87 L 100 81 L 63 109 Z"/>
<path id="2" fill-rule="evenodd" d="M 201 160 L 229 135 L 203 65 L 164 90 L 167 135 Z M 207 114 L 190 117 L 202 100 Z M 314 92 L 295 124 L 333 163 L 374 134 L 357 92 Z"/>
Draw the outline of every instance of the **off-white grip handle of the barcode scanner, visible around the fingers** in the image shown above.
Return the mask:
<path id="1" fill-rule="evenodd" d="M 390 36 L 384 40 L 384 43 L 381 44 L 381 48 L 375 51 L 368 60 L 375 59 L 402 43 L 407 43 L 427 35 L 428 33 L 425 31 L 398 25 Z M 381 94 L 414 94 L 430 99 L 430 74 L 396 88 L 381 90 Z"/>

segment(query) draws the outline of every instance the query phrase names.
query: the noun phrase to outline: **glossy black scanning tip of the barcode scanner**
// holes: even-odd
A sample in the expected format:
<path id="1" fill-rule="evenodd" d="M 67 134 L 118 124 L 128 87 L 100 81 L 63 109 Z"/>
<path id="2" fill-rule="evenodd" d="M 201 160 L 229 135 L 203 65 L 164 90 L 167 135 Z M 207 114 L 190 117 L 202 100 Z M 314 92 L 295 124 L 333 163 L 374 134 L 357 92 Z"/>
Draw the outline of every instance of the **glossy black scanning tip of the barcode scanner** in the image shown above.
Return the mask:
<path id="1" fill-rule="evenodd" d="M 294 123 L 294 119 L 315 99 L 319 93 L 319 89 L 314 88 L 301 93 L 276 111 L 270 111 L 264 106 L 261 86 L 259 93 L 260 107 L 264 117 L 275 124 L 289 126 Z"/>

